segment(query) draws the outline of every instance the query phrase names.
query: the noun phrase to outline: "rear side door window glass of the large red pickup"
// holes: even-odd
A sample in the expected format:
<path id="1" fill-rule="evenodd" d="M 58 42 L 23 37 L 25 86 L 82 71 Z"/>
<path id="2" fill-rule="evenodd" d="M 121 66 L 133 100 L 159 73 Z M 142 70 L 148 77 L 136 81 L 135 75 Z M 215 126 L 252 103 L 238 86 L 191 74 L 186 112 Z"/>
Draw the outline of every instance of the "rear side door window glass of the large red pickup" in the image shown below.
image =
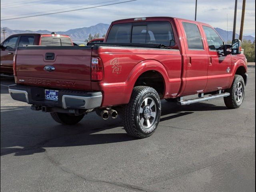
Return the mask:
<path id="1" fill-rule="evenodd" d="M 183 22 L 189 49 L 204 49 L 202 37 L 198 26 L 193 23 Z"/>

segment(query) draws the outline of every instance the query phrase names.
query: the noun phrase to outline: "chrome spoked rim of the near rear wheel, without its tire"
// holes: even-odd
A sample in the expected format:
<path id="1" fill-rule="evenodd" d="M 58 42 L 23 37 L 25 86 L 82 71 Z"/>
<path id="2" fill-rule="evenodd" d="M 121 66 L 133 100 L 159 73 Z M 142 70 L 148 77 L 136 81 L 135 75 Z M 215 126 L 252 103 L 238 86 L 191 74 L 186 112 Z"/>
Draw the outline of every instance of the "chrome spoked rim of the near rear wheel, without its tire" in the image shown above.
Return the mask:
<path id="1" fill-rule="evenodd" d="M 150 97 L 143 100 L 140 111 L 140 124 L 144 129 L 149 129 L 156 121 L 156 103 Z"/>

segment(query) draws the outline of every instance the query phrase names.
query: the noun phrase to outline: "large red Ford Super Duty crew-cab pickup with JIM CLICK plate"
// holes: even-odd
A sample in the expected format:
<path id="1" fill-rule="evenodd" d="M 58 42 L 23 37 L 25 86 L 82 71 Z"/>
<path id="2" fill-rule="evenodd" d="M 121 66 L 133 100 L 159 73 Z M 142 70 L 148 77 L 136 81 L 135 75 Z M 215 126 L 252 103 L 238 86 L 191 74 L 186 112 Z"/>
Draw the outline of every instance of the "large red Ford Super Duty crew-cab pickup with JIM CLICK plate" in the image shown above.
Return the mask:
<path id="1" fill-rule="evenodd" d="M 118 20 L 103 43 L 18 47 L 9 92 L 62 124 L 94 110 L 104 119 L 120 114 L 128 134 L 145 138 L 158 126 L 161 99 L 186 105 L 223 97 L 228 108 L 238 108 L 248 76 L 241 49 L 239 40 L 225 45 L 201 22 Z"/>

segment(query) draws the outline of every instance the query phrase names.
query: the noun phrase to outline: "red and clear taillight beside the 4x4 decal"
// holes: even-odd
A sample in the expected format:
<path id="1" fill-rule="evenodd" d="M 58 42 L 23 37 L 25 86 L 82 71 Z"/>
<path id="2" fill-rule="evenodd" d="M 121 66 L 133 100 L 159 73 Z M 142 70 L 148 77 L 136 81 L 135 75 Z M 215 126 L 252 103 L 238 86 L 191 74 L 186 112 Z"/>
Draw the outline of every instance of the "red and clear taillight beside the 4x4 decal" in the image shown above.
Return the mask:
<path id="1" fill-rule="evenodd" d="M 91 80 L 92 81 L 103 80 L 103 65 L 102 65 L 102 61 L 99 57 L 92 57 Z"/>

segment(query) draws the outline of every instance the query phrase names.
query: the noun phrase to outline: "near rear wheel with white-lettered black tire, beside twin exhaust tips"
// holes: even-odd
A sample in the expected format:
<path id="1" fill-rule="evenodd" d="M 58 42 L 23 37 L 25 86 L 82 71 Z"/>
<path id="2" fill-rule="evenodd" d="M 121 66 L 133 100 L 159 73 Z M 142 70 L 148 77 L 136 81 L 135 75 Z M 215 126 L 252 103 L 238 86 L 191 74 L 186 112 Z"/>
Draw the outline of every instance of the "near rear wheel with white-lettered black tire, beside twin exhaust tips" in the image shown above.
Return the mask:
<path id="1" fill-rule="evenodd" d="M 130 102 L 124 107 L 123 121 L 126 132 L 137 138 L 151 136 L 159 123 L 161 101 L 154 88 L 136 86 Z"/>

